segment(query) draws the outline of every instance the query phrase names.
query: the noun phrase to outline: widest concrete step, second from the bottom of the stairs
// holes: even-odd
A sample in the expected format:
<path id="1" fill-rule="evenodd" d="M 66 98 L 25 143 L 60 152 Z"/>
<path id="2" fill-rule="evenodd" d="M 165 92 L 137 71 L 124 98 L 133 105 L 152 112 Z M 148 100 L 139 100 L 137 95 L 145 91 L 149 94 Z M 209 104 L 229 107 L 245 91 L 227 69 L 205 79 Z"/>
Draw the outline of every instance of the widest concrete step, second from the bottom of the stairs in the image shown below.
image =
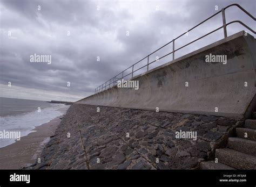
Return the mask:
<path id="1" fill-rule="evenodd" d="M 216 149 L 215 157 L 218 162 L 235 169 L 256 169 L 256 157 L 233 149 Z"/>

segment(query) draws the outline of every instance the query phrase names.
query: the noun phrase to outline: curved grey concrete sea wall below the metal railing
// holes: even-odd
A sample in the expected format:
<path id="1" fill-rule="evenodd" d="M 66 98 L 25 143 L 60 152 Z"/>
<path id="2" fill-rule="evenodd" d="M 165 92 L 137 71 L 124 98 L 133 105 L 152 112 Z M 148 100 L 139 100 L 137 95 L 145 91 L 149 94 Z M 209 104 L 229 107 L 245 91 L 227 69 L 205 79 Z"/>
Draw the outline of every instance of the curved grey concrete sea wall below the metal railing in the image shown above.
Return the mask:
<path id="1" fill-rule="evenodd" d="M 256 106 L 255 51 L 255 39 L 239 32 L 133 77 L 138 90 L 116 86 L 77 103 L 244 118 Z M 227 64 L 206 63 L 210 53 Z"/>

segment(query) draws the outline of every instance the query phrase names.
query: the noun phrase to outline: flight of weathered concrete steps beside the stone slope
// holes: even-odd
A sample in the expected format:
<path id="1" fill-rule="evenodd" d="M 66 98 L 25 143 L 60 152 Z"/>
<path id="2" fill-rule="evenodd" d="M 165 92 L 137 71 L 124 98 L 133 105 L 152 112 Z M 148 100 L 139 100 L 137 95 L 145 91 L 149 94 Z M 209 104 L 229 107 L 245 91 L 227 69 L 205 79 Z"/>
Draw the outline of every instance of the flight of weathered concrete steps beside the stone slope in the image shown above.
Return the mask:
<path id="1" fill-rule="evenodd" d="M 245 127 L 246 121 L 247 125 L 253 123 L 253 120 L 239 122 L 233 129 L 237 137 L 228 138 L 226 148 L 215 149 L 214 161 L 201 162 L 201 169 L 220 169 L 223 166 L 223 169 L 256 169 L 256 141 L 252 141 L 255 130 L 240 128 Z"/>

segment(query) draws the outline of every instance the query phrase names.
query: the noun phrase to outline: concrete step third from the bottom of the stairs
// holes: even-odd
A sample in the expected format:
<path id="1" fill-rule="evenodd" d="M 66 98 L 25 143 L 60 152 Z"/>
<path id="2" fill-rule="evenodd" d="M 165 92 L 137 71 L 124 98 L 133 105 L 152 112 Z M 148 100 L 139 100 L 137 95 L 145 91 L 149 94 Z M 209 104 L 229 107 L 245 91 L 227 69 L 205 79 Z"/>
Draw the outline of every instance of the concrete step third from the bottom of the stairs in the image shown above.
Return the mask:
<path id="1" fill-rule="evenodd" d="M 248 155 L 256 156 L 256 141 L 231 137 L 228 138 L 228 148 L 246 153 Z"/>

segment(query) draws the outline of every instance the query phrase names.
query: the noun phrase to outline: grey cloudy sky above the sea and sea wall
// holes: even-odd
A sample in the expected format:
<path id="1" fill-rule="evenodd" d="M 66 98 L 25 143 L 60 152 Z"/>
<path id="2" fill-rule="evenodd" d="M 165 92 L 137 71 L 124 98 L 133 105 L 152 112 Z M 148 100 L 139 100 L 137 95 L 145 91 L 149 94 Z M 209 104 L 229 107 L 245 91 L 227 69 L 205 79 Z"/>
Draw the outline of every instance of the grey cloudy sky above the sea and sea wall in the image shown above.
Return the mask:
<path id="1" fill-rule="evenodd" d="M 70 101 L 89 96 L 98 85 L 211 16 L 216 5 L 220 10 L 232 3 L 256 15 L 254 0 L 0 0 L 0 96 Z M 227 22 L 241 20 L 255 30 L 252 19 L 235 7 L 226 17 Z M 201 25 L 177 40 L 177 47 L 221 26 L 221 21 L 217 16 Z M 227 29 L 228 35 L 245 30 L 238 24 Z M 220 30 L 176 57 L 222 38 Z M 166 47 L 150 60 L 171 50 Z M 52 63 L 31 63 L 35 53 L 51 55 Z M 170 60 L 166 57 L 150 68 Z"/>

